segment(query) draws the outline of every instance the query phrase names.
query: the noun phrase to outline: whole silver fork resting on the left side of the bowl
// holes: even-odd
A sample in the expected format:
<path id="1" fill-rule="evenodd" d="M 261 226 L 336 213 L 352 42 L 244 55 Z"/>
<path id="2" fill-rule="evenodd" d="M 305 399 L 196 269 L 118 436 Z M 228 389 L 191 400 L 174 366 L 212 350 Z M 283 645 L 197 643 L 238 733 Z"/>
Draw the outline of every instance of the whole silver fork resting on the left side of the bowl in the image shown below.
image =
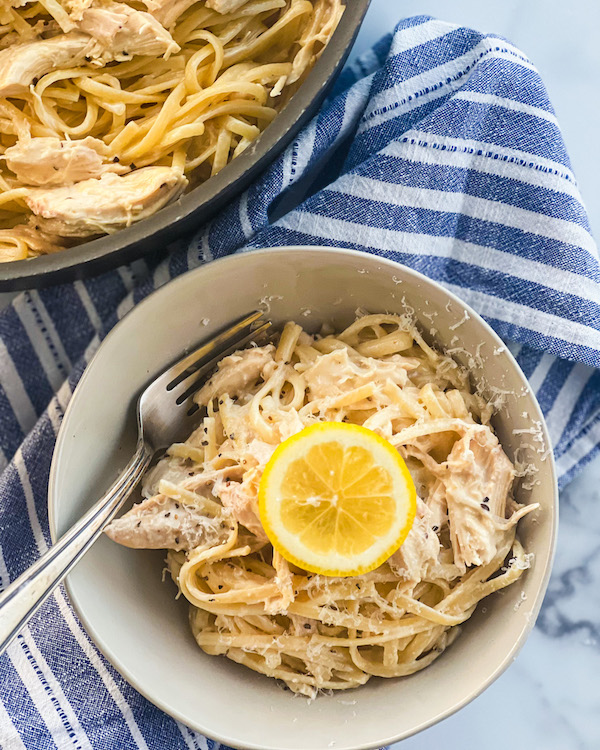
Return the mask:
<path id="1" fill-rule="evenodd" d="M 253 312 L 159 375 L 137 403 L 135 454 L 106 494 L 0 595 L 0 653 L 88 551 L 135 489 L 154 455 L 185 439 L 195 426 L 194 393 L 216 363 L 256 341 L 271 323 Z"/>

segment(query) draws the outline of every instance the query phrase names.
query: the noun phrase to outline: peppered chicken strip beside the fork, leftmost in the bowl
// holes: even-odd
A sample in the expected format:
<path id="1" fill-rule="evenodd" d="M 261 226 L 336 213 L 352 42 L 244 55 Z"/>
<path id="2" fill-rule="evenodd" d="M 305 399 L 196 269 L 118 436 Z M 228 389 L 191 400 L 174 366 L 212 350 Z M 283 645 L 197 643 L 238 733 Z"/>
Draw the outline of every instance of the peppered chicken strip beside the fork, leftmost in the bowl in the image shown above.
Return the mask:
<path id="1" fill-rule="evenodd" d="M 114 542 L 135 549 L 192 550 L 224 541 L 230 527 L 200 505 L 156 495 L 134 505 L 105 529 Z"/>

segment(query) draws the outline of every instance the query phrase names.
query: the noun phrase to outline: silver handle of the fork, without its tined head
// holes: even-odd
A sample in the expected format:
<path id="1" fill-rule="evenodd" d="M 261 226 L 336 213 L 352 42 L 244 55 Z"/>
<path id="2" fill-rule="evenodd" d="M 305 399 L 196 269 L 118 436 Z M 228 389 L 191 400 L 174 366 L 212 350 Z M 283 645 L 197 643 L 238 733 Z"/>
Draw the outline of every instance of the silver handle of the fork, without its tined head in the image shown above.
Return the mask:
<path id="1" fill-rule="evenodd" d="M 0 654 L 100 536 L 135 489 L 151 458 L 140 440 L 135 455 L 108 492 L 0 594 Z"/>

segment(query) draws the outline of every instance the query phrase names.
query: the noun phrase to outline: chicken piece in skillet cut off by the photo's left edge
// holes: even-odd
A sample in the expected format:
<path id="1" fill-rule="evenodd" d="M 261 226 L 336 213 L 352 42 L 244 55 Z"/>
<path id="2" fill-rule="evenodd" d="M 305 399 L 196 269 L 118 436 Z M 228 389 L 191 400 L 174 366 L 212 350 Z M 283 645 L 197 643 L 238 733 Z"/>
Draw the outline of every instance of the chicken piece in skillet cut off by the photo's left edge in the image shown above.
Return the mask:
<path id="1" fill-rule="evenodd" d="M 94 41 L 72 31 L 52 39 L 14 44 L 0 52 L 0 96 L 19 96 L 36 79 L 56 68 L 73 68 L 85 62 Z"/>

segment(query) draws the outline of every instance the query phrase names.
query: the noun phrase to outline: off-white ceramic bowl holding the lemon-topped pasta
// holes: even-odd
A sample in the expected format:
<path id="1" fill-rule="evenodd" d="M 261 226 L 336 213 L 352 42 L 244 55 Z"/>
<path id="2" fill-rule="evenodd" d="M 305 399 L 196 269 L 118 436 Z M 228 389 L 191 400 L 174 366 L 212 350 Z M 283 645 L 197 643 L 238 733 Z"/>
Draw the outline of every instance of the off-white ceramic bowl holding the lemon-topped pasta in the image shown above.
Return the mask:
<path id="1" fill-rule="evenodd" d="M 321 321 L 348 324 L 358 307 L 403 312 L 407 306 L 414 308 L 424 331 L 435 326 L 442 346 L 458 336 L 460 346 L 478 352 L 483 367 L 473 369 L 476 380 L 510 392 L 495 421 L 509 456 L 526 442 L 514 430 L 529 428 L 532 420 L 542 425 L 547 443 L 539 406 L 512 356 L 473 310 L 439 285 L 354 251 L 254 251 L 167 284 L 106 338 L 58 436 L 49 489 L 53 537 L 126 464 L 135 445 L 137 394 L 191 345 L 257 307 L 268 308 L 276 322 L 296 319 L 316 328 Z M 526 549 L 535 554 L 533 567 L 514 586 L 487 599 L 485 612 L 478 609 L 440 659 L 408 678 L 373 678 L 356 690 L 309 703 L 225 657 L 205 655 L 190 633 L 186 602 L 175 601 L 171 582 L 161 582 L 162 552 L 134 551 L 102 538 L 69 575 L 68 591 L 88 632 L 121 674 L 188 726 L 237 748 L 379 747 L 475 698 L 509 666 L 533 627 L 550 574 L 557 490 L 551 455 L 526 452 L 538 469 L 536 483 L 529 491 L 519 488 L 517 496 L 541 505 L 520 526 Z"/>

